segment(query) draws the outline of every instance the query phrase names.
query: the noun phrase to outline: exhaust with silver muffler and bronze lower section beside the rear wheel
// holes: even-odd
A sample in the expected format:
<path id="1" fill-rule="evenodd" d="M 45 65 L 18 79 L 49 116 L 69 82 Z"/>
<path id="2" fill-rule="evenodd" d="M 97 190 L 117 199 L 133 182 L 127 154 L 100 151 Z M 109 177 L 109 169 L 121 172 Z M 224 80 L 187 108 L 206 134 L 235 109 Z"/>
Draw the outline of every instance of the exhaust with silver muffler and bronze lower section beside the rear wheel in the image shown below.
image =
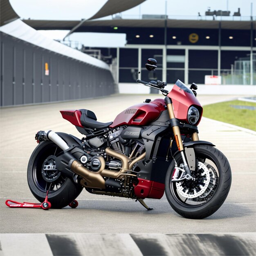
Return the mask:
<path id="1" fill-rule="evenodd" d="M 36 140 L 38 142 L 51 140 L 63 151 L 70 148 L 67 143 L 52 130 L 38 132 L 36 134 Z M 83 177 L 84 180 L 81 181 L 82 186 L 105 189 L 105 180 L 103 177 L 99 173 L 94 173 L 85 168 L 83 164 L 74 159 L 70 152 L 66 152 L 63 155 L 57 157 L 56 165 L 62 167 L 60 168 L 60 171 L 62 169 L 63 171 L 71 169 L 71 171 L 73 171 L 75 174 Z"/>

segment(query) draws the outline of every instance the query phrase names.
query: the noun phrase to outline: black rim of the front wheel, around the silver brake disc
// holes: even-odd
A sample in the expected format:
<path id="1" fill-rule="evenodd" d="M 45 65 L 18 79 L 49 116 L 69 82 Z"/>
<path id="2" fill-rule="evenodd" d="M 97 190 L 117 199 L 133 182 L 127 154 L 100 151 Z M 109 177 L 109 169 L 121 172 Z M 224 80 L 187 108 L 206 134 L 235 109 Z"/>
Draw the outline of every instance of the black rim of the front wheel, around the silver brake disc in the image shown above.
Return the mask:
<path id="1" fill-rule="evenodd" d="M 198 183 L 202 182 L 200 180 L 200 175 L 198 174 L 198 171 L 202 171 L 202 169 L 198 170 L 196 168 L 196 171 L 191 172 L 191 175 L 196 178 L 195 182 L 186 181 L 180 182 L 182 184 L 181 186 L 184 188 L 184 191 L 186 191 L 187 195 L 181 194 L 177 182 L 171 182 L 171 178 L 173 176 L 174 168 L 171 171 L 171 178 L 170 178 L 170 191 L 171 195 L 173 196 L 174 200 L 180 204 L 182 207 L 186 208 L 197 208 L 201 207 L 203 204 L 206 204 L 213 198 L 215 195 L 218 186 L 219 186 L 219 180 L 220 180 L 220 168 L 218 164 L 216 163 L 216 160 L 213 159 L 210 155 L 206 153 L 198 153 L 196 152 L 196 159 L 198 162 L 201 162 L 204 164 L 205 167 L 203 167 L 204 170 L 209 171 L 210 175 L 210 181 L 209 185 L 207 186 L 207 189 L 202 193 L 202 195 L 199 195 L 195 198 L 189 198 L 189 193 L 192 194 L 192 190 L 198 189 Z M 182 159 L 177 160 L 177 165 L 179 166 L 182 164 Z"/>

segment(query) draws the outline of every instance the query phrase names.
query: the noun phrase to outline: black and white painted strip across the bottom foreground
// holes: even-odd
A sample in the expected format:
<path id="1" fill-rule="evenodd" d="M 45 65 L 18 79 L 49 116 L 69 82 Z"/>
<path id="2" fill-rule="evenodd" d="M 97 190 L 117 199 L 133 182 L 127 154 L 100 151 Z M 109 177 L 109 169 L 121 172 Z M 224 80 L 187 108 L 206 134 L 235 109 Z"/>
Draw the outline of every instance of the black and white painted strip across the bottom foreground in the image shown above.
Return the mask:
<path id="1" fill-rule="evenodd" d="M 1 234 L 0 252 L 2 256 L 256 255 L 256 234 Z"/>

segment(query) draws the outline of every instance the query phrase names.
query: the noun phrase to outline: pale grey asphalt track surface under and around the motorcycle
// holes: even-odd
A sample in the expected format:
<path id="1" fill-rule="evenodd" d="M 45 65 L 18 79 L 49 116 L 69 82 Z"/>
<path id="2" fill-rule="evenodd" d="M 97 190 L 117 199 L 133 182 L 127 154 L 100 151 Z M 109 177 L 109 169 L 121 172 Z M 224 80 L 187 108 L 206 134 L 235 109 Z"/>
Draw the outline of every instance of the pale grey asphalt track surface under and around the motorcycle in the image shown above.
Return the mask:
<path id="1" fill-rule="evenodd" d="M 232 255 L 255 255 L 256 135 L 254 132 L 240 130 L 237 127 L 210 119 L 202 119 L 198 126 L 199 137 L 202 140 L 211 141 L 227 156 L 232 170 L 232 185 L 227 200 L 222 207 L 204 220 L 188 220 L 177 215 L 168 204 L 165 196 L 161 200 L 145 200 L 150 207 L 156 207 L 152 211 L 146 211 L 138 202 L 131 199 L 92 195 L 86 191 L 82 191 L 79 195 L 79 207 L 77 209 L 66 207 L 60 210 L 49 209 L 48 211 L 43 211 L 41 209 L 10 209 L 5 205 L 4 202 L 7 199 L 20 202 L 36 202 L 27 186 L 26 173 L 29 157 L 36 147 L 34 135 L 38 130 L 61 131 L 82 137 L 72 124 L 62 119 L 59 110 L 86 108 L 94 111 L 99 121 L 107 122 L 112 121 L 125 108 L 143 102 L 146 98 L 154 99 L 157 97 L 161 96 L 152 94 L 114 95 L 100 99 L 1 109 L 1 255 L 14 255 L 14 251 L 10 249 L 12 248 L 10 247 L 11 245 L 18 243 L 20 240 L 24 241 L 23 244 L 27 245 L 28 243 L 25 241 L 32 241 L 32 238 L 36 239 L 37 236 L 43 236 L 42 241 L 46 239 L 45 243 L 52 252 L 50 254 L 49 251 L 49 254 L 47 254 L 45 251 L 46 254 L 40 254 L 38 249 L 38 255 L 62 255 L 58 254 L 58 252 L 54 253 L 52 247 L 50 247 L 48 238 L 56 233 L 58 233 L 56 236 L 59 234 L 72 236 L 74 241 L 78 239 L 77 234 L 81 233 L 79 237 L 84 238 L 81 238 L 80 242 L 84 247 L 87 247 L 85 246 L 87 243 L 91 243 L 90 233 L 92 237 L 97 236 L 97 234 L 108 234 L 109 239 L 114 240 L 121 239 L 116 237 L 120 234 L 124 236 L 130 234 L 129 236 L 132 240 L 127 238 L 127 241 L 130 241 L 131 245 L 129 247 L 128 244 L 126 247 L 135 248 L 134 252 L 124 254 L 123 251 L 118 251 L 115 247 L 110 246 L 110 243 L 109 249 L 105 251 L 98 252 L 95 249 L 86 254 L 84 253 L 84 255 L 161 255 L 163 252 L 164 254 L 162 255 L 207 255 L 211 254 L 212 251 L 206 248 L 209 247 L 211 242 L 213 243 L 213 240 L 216 240 L 212 236 L 212 234 L 216 233 L 214 236 L 236 237 L 240 240 L 242 239 L 245 242 L 244 245 L 247 243 L 246 247 L 247 249 L 249 248 L 249 251 L 241 253 L 238 250 L 238 254 Z M 199 95 L 198 99 L 202 105 L 205 105 L 237 97 Z M 28 233 L 35 233 L 35 235 L 29 235 Z M 88 233 L 89 235 L 86 235 Z M 144 234 L 143 236 L 141 235 L 144 240 L 142 239 L 142 242 L 140 241 L 140 245 L 138 245 L 138 239 L 136 240 L 138 235 L 136 234 L 141 233 Z M 161 251 L 161 248 L 159 249 L 159 254 L 156 252 L 154 254 L 147 254 L 147 252 L 143 251 L 143 247 L 141 247 L 142 243 L 144 248 L 145 246 L 147 248 L 145 241 L 160 239 L 159 236 L 161 234 L 165 236 L 165 239 L 168 238 L 167 240 L 169 241 L 169 237 L 173 236 L 173 234 L 187 237 L 188 235 L 186 234 L 192 233 L 211 234 L 207 236 L 208 244 L 206 243 L 205 246 L 201 244 L 204 251 L 202 249 L 201 251 L 193 251 L 191 249 L 195 244 L 199 245 L 199 242 L 195 241 L 200 241 L 202 239 L 201 235 L 196 235 L 196 237 L 191 235 L 192 238 L 189 236 L 191 239 L 187 240 L 189 241 L 190 251 L 182 251 L 181 249 L 179 252 L 172 253 L 169 242 L 166 242 L 165 251 Z M 106 240 L 106 238 L 104 239 Z M 105 241 L 104 239 L 101 236 L 101 241 Z M 184 239 L 182 239 L 179 238 L 177 243 L 184 243 Z M 134 241 L 137 247 L 132 247 Z M 230 248 L 232 243 L 235 243 L 234 241 L 227 243 Z M 97 245 L 97 243 L 94 243 L 94 245 Z M 191 247 L 190 245 L 193 246 Z M 104 242 L 99 244 L 99 246 L 106 247 Z M 227 251 L 223 250 L 221 252 L 216 251 L 216 255 L 227 255 L 225 254 Z M 29 251 L 27 251 L 27 254 L 23 254 L 22 249 L 20 249 L 16 255 L 33 255 L 32 251 L 30 252 L 31 254 L 29 254 Z M 76 255 L 83 255 L 82 252 L 84 251 L 80 249 L 79 252 L 80 254 Z"/>

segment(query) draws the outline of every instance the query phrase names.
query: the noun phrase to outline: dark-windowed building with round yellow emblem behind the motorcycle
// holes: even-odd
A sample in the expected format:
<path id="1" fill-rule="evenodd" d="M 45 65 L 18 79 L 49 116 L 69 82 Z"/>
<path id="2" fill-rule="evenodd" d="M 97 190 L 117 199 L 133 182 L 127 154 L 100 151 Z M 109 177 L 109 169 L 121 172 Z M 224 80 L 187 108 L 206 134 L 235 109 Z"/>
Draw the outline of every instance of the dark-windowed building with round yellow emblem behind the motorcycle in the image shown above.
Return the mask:
<path id="1" fill-rule="evenodd" d="M 203 84 L 205 75 L 218 75 L 222 76 L 222 84 L 256 84 L 255 17 L 198 16 L 193 20 L 184 17 L 180 20 L 164 15 L 142 15 L 139 19 L 120 15 L 106 20 L 87 20 L 79 26 L 78 21 L 68 20 L 24 22 L 35 29 L 125 33 L 125 47 L 93 48 L 105 57 L 117 58 L 119 83 L 155 78 L 168 83 L 180 79 L 185 83 Z M 84 47 L 83 51 L 91 54 L 93 49 Z M 146 71 L 144 64 L 149 57 L 157 59 L 155 74 Z M 245 67 L 235 64 L 248 57 Z M 138 71 L 141 73 L 137 74 Z"/>

